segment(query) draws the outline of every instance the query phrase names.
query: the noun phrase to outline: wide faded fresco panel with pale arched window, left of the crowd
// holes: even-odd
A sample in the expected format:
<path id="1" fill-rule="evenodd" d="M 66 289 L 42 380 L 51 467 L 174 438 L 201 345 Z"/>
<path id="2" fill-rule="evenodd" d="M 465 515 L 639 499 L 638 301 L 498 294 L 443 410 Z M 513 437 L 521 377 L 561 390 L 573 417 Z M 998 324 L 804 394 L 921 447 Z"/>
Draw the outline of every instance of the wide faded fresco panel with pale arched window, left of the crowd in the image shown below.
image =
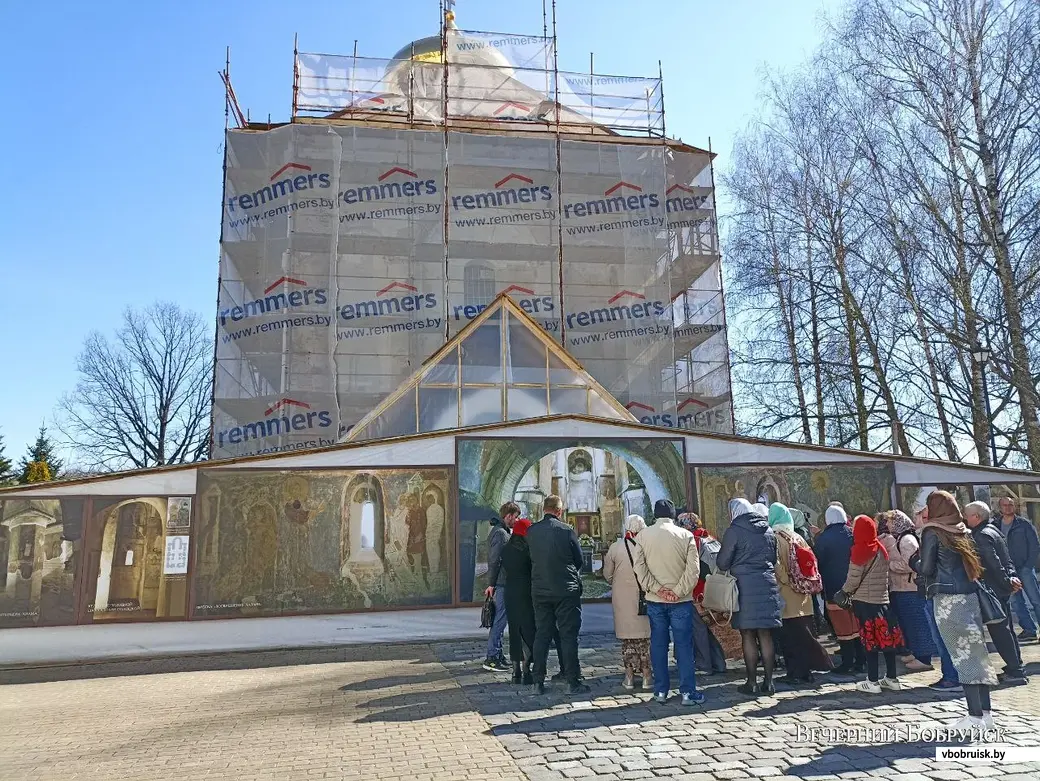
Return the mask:
<path id="1" fill-rule="evenodd" d="M 196 617 L 451 603 L 447 469 L 202 470 Z"/>

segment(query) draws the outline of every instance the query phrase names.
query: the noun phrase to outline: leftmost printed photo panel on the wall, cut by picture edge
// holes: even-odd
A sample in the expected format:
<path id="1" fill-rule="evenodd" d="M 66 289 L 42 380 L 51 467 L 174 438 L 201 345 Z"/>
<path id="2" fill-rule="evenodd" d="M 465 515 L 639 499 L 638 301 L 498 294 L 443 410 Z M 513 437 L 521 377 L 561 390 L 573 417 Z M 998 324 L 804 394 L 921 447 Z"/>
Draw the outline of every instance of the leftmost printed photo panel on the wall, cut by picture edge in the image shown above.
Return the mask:
<path id="1" fill-rule="evenodd" d="M 76 623 L 83 503 L 0 499 L 0 628 Z"/>

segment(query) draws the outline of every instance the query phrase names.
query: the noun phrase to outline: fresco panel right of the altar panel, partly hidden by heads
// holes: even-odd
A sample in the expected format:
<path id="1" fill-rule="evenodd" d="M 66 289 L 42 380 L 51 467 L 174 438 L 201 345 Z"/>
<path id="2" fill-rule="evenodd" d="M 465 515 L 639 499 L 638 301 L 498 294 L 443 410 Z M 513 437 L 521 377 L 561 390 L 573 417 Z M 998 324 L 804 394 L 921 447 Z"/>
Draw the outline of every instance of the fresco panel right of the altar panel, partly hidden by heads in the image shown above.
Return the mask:
<path id="1" fill-rule="evenodd" d="M 892 509 L 895 472 L 890 463 L 822 466 L 698 467 L 700 506 L 705 527 L 721 536 L 729 525 L 729 500 L 786 504 L 795 515 L 823 528 L 824 511 L 840 501 L 852 516 Z"/>

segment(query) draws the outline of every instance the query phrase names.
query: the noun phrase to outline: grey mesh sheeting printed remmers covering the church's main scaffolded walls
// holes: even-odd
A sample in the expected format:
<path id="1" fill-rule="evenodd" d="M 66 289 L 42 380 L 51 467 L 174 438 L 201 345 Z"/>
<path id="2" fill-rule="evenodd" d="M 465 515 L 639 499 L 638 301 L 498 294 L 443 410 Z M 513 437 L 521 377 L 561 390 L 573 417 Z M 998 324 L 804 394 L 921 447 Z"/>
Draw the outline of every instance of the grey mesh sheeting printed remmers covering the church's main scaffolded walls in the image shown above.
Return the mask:
<path id="1" fill-rule="evenodd" d="M 660 141 L 231 131 L 213 457 L 338 441 L 503 291 L 644 422 L 729 431 L 713 206 Z"/>

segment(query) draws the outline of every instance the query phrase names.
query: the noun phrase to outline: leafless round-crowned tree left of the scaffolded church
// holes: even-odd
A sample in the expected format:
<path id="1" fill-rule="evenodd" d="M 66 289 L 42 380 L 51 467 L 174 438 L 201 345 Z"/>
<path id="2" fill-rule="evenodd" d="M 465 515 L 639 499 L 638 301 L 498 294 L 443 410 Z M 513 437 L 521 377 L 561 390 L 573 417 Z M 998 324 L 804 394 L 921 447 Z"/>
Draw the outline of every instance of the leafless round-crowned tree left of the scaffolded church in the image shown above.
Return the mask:
<path id="1" fill-rule="evenodd" d="M 127 309 L 111 341 L 90 334 L 57 414 L 77 463 L 112 470 L 205 458 L 211 349 L 199 315 L 168 303 Z"/>

